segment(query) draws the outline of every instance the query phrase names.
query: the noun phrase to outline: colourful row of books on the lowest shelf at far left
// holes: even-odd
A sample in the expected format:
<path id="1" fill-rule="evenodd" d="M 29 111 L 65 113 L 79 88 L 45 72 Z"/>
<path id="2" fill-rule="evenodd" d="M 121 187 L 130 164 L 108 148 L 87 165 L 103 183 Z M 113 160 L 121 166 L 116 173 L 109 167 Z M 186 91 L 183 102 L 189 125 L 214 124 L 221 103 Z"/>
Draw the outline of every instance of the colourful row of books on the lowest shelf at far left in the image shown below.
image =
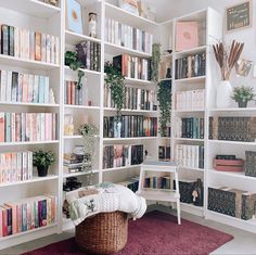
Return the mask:
<path id="1" fill-rule="evenodd" d="M 54 195 L 39 195 L 0 205 L 0 237 L 50 226 L 55 221 Z"/>

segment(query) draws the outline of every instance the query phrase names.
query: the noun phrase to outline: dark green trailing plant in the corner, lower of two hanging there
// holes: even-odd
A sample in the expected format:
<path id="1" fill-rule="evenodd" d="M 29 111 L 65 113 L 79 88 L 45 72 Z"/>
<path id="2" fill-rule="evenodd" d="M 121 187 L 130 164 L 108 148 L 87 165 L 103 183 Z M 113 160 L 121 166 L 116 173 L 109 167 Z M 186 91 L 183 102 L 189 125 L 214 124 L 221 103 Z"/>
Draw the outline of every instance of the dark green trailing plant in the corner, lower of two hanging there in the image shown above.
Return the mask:
<path id="1" fill-rule="evenodd" d="M 159 102 L 159 132 L 162 137 L 166 137 L 167 124 L 170 122 L 171 111 L 171 84 L 170 81 L 161 81 L 157 89 L 157 100 Z"/>

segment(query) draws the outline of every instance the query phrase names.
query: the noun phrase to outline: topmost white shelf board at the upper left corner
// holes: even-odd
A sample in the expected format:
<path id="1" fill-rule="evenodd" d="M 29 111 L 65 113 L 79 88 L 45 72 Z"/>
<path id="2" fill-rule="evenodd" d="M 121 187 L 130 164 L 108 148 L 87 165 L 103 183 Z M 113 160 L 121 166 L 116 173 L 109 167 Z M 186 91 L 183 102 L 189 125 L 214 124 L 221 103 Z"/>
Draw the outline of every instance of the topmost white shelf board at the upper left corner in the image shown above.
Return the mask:
<path id="1" fill-rule="evenodd" d="M 39 18 L 49 18 L 61 13 L 59 7 L 38 0 L 0 0 L 0 7 Z"/>

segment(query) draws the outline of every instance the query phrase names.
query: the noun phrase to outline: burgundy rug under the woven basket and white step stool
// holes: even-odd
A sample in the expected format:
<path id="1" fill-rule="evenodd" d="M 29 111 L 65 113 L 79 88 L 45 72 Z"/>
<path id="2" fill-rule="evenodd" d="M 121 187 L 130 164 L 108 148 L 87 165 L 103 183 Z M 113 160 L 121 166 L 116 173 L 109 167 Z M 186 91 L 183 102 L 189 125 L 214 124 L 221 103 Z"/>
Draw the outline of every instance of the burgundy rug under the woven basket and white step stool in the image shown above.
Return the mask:
<path id="1" fill-rule="evenodd" d="M 151 212 L 139 220 L 129 221 L 129 235 L 126 247 L 118 255 L 206 255 L 232 240 L 233 237 L 199 224 L 162 213 Z M 26 255 L 81 255 L 76 248 L 75 239 L 67 239 Z M 25 255 L 25 254 L 24 254 Z"/>

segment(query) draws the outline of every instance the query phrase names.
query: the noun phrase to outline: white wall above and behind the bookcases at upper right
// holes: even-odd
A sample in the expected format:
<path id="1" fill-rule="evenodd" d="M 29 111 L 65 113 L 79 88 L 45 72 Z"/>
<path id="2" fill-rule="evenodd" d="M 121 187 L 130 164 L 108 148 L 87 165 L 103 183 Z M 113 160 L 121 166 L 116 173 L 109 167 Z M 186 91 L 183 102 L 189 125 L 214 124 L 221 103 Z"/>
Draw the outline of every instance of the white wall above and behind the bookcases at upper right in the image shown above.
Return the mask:
<path id="1" fill-rule="evenodd" d="M 225 21 L 225 10 L 226 7 L 234 5 L 240 3 L 242 0 L 158 0 L 151 1 L 157 4 L 157 20 L 166 21 L 172 17 L 181 16 L 183 14 L 194 12 L 201 9 L 210 7 L 223 16 Z M 243 59 L 254 61 L 256 64 L 256 0 L 252 0 L 253 3 L 253 25 L 249 28 L 240 29 L 232 33 L 225 33 L 226 41 L 229 42 L 232 39 L 235 39 L 240 42 L 244 42 L 244 50 L 242 53 Z M 253 78 L 253 71 L 251 71 L 248 77 L 236 77 L 233 73 L 231 77 L 231 84 L 233 86 L 246 85 L 253 86 L 256 91 L 256 79 Z"/>

